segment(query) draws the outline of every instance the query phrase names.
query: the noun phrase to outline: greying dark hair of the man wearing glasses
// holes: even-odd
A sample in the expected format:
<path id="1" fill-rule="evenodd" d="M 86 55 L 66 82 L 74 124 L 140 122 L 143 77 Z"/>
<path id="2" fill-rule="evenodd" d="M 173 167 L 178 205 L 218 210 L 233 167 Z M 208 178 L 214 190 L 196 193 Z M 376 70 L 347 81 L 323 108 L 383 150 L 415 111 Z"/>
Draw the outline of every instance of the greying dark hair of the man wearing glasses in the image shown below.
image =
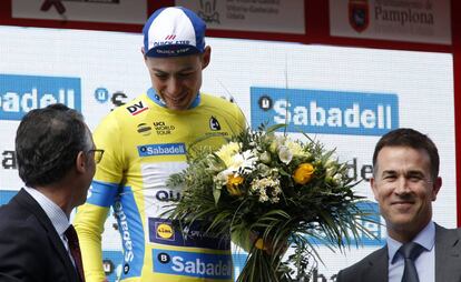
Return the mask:
<path id="1" fill-rule="evenodd" d="M 16 134 L 19 177 L 28 187 L 61 180 L 80 151 L 92 148 L 84 117 L 61 103 L 28 112 Z"/>

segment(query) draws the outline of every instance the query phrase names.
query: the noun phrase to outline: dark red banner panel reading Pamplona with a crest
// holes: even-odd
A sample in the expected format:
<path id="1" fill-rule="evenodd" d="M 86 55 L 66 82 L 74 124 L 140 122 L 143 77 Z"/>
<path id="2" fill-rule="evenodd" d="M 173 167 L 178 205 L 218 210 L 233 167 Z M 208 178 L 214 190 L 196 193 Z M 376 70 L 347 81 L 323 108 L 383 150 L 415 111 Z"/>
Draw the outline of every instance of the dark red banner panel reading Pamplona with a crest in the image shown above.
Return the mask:
<path id="1" fill-rule="evenodd" d="M 451 44 L 450 0 L 330 0 L 330 34 Z"/>

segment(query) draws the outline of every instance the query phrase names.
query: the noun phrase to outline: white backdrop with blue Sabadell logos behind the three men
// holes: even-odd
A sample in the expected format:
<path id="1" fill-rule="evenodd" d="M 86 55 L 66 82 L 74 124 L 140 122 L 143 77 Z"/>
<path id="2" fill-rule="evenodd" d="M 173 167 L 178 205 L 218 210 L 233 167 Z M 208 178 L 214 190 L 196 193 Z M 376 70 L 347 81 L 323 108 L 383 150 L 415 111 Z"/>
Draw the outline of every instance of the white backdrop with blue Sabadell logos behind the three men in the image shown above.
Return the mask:
<path id="1" fill-rule="evenodd" d="M 149 87 L 141 36 L 121 32 L 0 27 L 0 204 L 22 187 L 14 162 L 14 134 L 29 110 L 63 102 L 84 113 L 91 129 L 114 108 Z M 439 145 L 443 187 L 434 219 L 455 226 L 453 63 L 445 53 L 302 46 L 207 39 L 212 63 L 203 91 L 238 103 L 248 124 L 287 123 L 336 148 L 347 161 L 357 192 L 370 199 L 371 157 L 380 135 L 399 127 L 428 133 Z M 141 134 L 140 132 L 139 134 Z M 102 245 L 111 281 L 120 271 L 120 240 L 114 214 Z M 333 253 L 320 245 L 325 264 L 314 281 L 335 273 L 383 244 L 385 229 L 369 225 L 376 239 Z M 245 255 L 234 255 L 236 272 Z"/>

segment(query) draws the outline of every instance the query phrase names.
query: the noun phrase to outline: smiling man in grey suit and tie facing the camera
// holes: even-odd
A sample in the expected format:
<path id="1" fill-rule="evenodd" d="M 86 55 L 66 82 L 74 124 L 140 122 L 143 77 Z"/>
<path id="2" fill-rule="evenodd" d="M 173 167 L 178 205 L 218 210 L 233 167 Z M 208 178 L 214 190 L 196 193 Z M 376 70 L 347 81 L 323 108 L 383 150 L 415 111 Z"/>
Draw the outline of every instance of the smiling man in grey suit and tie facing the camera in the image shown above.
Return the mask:
<path id="1" fill-rule="evenodd" d="M 461 231 L 432 221 L 442 185 L 439 164 L 435 144 L 415 130 L 380 139 L 371 187 L 386 223 L 386 245 L 340 271 L 339 282 L 461 281 Z"/>

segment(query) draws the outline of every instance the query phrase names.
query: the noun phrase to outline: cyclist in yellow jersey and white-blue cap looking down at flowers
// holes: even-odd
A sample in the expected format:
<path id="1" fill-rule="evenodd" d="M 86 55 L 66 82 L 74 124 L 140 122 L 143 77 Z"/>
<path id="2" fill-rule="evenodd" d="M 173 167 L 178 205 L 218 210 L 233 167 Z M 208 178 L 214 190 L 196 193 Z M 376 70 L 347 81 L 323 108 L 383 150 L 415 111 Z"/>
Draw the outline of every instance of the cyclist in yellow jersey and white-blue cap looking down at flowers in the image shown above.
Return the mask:
<path id="1" fill-rule="evenodd" d="M 194 228 L 183 238 L 160 215 L 180 198 L 180 189 L 165 181 L 186 168 L 190 144 L 202 139 L 200 145 L 217 149 L 244 130 L 245 118 L 236 104 L 199 92 L 210 60 L 200 18 L 163 8 L 143 32 L 153 85 L 109 113 L 94 133 L 105 158 L 75 219 L 86 281 L 105 280 L 101 233 L 110 207 L 124 248 L 122 281 L 233 281 L 229 238 Z"/>

